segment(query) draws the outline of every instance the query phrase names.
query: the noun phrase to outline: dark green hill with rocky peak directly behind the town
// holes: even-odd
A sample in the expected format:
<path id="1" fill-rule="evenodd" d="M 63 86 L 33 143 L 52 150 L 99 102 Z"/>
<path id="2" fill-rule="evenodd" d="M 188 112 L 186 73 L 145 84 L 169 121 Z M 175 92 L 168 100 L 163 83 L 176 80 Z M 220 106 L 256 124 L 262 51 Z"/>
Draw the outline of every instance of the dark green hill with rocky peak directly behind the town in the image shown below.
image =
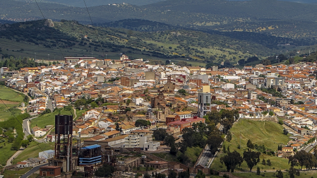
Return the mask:
<path id="1" fill-rule="evenodd" d="M 202 66 L 206 62 L 234 63 L 253 55 L 263 58 L 275 54 L 273 49 L 253 42 L 193 30 L 137 32 L 67 20 L 54 22 L 54 27 L 48 25 L 53 23 L 36 20 L 0 25 L 4 29 L 0 31 L 1 54 L 35 58 L 36 52 L 37 59 L 62 59 L 90 55 L 104 58 L 105 54 L 118 58 L 124 52 L 134 59 L 185 60 Z"/>

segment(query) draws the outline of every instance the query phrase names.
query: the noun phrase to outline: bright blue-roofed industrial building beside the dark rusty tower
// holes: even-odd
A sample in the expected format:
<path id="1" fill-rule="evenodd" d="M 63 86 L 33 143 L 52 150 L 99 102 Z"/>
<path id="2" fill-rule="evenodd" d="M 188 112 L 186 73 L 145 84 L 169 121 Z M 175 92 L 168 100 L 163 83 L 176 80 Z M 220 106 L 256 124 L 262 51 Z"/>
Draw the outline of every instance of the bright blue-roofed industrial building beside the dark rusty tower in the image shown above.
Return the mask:
<path id="1" fill-rule="evenodd" d="M 94 165 L 101 162 L 101 146 L 92 145 L 80 148 L 79 165 Z"/>

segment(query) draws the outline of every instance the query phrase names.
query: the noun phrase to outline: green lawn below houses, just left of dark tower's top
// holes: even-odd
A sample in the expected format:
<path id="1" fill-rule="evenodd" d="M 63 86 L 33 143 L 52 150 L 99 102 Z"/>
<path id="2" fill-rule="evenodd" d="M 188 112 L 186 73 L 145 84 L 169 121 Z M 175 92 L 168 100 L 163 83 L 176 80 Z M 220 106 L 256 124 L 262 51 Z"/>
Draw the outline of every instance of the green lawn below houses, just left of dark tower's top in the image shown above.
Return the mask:
<path id="1" fill-rule="evenodd" d="M 61 115 L 71 115 L 73 113 L 73 110 L 71 111 L 65 111 L 64 109 L 61 111 Z M 55 125 L 55 115 L 59 114 L 59 112 L 56 110 L 55 112 L 44 114 L 40 117 L 37 117 L 35 119 L 32 119 L 30 129 L 32 129 L 35 126 L 38 126 L 40 128 L 44 128 L 47 125 Z"/>

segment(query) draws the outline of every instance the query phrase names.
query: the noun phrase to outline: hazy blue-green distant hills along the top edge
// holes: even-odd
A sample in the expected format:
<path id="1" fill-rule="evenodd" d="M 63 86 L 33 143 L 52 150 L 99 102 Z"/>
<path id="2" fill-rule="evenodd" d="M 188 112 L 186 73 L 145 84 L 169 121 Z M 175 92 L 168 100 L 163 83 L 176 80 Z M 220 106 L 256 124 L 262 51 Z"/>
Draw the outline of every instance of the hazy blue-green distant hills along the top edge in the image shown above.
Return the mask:
<path id="1" fill-rule="evenodd" d="M 44 1 L 39 3 L 39 6 L 45 18 L 91 23 L 87 9 L 83 7 L 48 4 Z M 317 37 L 314 20 L 317 16 L 316 7 L 316 4 L 276 0 L 167 0 L 145 6 L 116 4 L 92 6 L 88 9 L 93 23 L 138 18 L 197 30 L 257 32 L 269 36 L 305 39 Z M 1 1 L 2 20 L 25 21 L 42 18 L 35 3 Z"/>

